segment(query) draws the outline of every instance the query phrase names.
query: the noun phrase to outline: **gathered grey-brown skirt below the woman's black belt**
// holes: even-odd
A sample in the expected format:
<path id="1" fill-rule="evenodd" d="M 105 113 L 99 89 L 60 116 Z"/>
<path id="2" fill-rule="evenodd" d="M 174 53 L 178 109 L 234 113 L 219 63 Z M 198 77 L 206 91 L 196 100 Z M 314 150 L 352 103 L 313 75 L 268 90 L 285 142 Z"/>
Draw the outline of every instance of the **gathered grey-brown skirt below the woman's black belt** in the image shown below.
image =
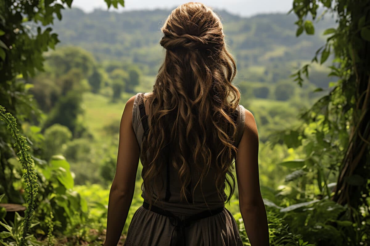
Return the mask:
<path id="1" fill-rule="evenodd" d="M 186 215 L 177 215 L 186 219 Z M 128 227 L 124 246 L 170 246 L 175 226 L 169 217 L 139 207 Z M 222 212 L 199 219 L 186 227 L 185 245 L 243 246 L 238 225 L 231 212 Z"/>

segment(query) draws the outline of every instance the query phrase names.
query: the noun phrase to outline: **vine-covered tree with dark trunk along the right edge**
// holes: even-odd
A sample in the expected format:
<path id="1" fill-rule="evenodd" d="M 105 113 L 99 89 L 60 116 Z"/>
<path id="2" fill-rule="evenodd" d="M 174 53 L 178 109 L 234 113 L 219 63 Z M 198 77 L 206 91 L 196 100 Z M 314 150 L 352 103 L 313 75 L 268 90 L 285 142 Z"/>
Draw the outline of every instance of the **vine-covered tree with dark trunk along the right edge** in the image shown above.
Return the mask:
<path id="1" fill-rule="evenodd" d="M 309 159 L 317 169 L 319 190 L 336 201 L 346 205 L 347 211 L 338 218 L 350 215 L 351 226 L 348 242 L 343 245 L 361 245 L 368 242 L 368 212 L 370 183 L 370 4 L 367 0 L 294 0 L 291 11 L 297 15 L 296 35 L 305 31 L 314 33 L 312 19 L 317 18 L 317 9 L 322 4 L 325 11 L 336 17 L 338 26 L 324 31 L 329 35 L 326 43 L 316 51 L 312 63 L 323 64 L 330 54 L 334 63 L 329 76 L 339 80 L 330 87 L 327 95 L 320 98 L 313 107 L 302 115 L 308 123 L 320 123 L 316 139 L 300 137 L 311 143 L 307 148 L 312 155 Z M 302 76 L 309 76 L 310 64 L 295 73 L 295 81 L 302 86 Z M 321 90 L 321 89 L 320 89 Z M 306 145 L 307 146 L 307 145 Z M 341 151 L 340 151 L 341 150 Z M 322 163 L 325 158 L 329 163 Z M 325 166 L 320 166 L 322 164 Z M 340 163 L 340 165 L 338 165 Z M 337 173 L 334 195 L 322 180 L 325 170 Z M 323 176 L 325 175 L 325 176 Z M 349 230 L 350 230 L 349 229 Z"/>

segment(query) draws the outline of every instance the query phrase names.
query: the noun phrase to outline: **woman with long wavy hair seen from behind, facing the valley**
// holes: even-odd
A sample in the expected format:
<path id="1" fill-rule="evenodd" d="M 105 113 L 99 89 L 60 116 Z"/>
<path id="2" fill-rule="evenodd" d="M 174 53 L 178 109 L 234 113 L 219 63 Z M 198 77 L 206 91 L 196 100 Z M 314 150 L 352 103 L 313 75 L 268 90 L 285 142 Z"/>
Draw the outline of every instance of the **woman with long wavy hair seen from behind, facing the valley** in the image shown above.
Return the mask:
<path id="1" fill-rule="evenodd" d="M 231 83 L 236 65 L 219 17 L 201 3 L 186 3 L 172 11 L 161 30 L 166 55 L 153 91 L 131 97 L 122 114 L 104 245 L 118 243 L 139 158 L 144 203 L 129 225 L 126 246 L 242 246 L 224 206 L 235 188 L 233 159 L 250 243 L 269 245 L 258 131 Z"/>

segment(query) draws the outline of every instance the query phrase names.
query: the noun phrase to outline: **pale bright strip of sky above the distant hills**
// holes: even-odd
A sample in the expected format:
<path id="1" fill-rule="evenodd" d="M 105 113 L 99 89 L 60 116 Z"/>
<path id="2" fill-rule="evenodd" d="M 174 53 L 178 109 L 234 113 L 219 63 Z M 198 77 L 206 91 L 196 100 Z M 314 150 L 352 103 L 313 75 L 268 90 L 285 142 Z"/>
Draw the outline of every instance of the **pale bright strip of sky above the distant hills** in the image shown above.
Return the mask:
<path id="1" fill-rule="evenodd" d="M 119 10 L 174 9 L 187 2 L 178 0 L 125 0 L 125 7 L 119 8 Z M 222 9 L 236 15 L 249 17 L 262 13 L 287 13 L 292 7 L 293 0 L 202 0 L 201 2 L 215 9 Z M 72 7 L 91 12 L 94 8 L 106 10 L 107 4 L 104 0 L 74 0 Z M 113 7 L 111 6 L 112 9 Z"/>

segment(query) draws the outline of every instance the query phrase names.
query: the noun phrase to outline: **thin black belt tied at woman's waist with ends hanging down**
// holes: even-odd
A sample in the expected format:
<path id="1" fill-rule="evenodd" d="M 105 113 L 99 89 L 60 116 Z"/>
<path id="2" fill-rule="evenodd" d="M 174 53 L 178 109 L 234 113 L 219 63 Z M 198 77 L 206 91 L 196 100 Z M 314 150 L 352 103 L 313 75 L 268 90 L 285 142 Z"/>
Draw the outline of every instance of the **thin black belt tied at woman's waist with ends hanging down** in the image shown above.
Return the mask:
<path id="1" fill-rule="evenodd" d="M 143 202 L 142 206 L 145 209 L 149 210 L 149 204 L 147 202 Z M 171 235 L 171 246 L 186 246 L 185 242 L 185 228 L 191 225 L 192 222 L 197 221 L 199 219 L 207 218 L 212 215 L 219 214 L 223 211 L 225 207 L 219 207 L 213 210 L 205 210 L 198 214 L 192 215 L 186 219 L 180 219 L 178 216 L 172 214 L 170 211 L 164 210 L 157 206 L 152 205 L 149 211 L 153 211 L 157 214 L 164 215 L 169 217 L 169 221 L 173 226 L 175 226 L 174 231 L 172 231 Z"/>

